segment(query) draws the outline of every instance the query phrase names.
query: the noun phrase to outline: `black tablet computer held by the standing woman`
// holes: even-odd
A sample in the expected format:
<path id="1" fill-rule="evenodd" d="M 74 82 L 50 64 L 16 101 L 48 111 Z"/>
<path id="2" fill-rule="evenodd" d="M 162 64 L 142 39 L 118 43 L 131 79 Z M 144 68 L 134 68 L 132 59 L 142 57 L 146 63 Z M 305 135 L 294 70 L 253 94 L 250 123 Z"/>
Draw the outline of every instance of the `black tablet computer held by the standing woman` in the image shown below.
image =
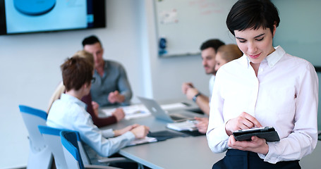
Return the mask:
<path id="1" fill-rule="evenodd" d="M 234 138 L 237 141 L 250 141 L 252 136 L 257 136 L 265 139 L 267 142 L 279 142 L 279 134 L 274 130 L 274 127 L 258 127 L 245 130 L 236 130 L 233 132 Z"/>

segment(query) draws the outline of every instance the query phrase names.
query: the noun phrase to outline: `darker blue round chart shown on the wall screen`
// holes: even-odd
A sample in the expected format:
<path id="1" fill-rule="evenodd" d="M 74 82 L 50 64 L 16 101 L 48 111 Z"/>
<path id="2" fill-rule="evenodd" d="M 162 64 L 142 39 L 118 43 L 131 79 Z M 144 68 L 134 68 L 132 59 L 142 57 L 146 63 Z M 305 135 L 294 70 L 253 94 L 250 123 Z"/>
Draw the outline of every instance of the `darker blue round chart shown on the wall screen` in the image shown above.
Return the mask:
<path id="1" fill-rule="evenodd" d="M 13 0 L 17 11 L 25 15 L 43 15 L 52 11 L 56 0 Z"/>

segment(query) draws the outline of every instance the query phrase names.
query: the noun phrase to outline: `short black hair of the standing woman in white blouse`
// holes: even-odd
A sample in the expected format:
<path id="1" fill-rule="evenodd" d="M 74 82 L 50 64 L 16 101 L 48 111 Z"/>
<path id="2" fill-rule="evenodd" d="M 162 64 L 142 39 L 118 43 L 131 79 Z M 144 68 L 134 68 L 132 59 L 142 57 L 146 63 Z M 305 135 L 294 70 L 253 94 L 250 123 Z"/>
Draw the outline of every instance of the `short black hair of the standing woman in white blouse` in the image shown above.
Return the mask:
<path id="1" fill-rule="evenodd" d="M 269 0 L 239 0 L 234 4 L 226 18 L 229 31 L 242 31 L 248 28 L 258 30 L 269 28 L 273 35 L 274 25 L 279 26 L 277 7 Z"/>

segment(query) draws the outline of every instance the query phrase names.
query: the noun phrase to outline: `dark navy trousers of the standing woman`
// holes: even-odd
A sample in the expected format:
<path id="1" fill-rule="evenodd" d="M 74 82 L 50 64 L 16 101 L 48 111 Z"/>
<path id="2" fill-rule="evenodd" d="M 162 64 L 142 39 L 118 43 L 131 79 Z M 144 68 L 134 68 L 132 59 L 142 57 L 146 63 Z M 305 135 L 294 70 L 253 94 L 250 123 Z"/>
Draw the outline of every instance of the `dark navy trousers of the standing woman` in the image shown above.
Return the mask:
<path id="1" fill-rule="evenodd" d="M 225 157 L 214 163 L 213 169 L 301 169 L 298 161 L 280 161 L 276 164 L 267 163 L 261 159 L 258 154 L 251 151 L 241 151 L 229 149 Z"/>

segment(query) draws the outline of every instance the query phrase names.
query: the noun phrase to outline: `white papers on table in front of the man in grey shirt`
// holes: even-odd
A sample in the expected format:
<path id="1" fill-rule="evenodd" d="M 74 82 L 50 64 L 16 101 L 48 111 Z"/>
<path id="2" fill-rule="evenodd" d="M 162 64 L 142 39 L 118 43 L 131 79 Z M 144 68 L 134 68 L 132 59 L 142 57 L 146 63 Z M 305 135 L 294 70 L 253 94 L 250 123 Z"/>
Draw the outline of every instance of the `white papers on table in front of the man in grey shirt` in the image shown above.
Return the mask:
<path id="1" fill-rule="evenodd" d="M 147 115 L 150 115 L 150 111 L 143 106 L 143 104 L 135 104 L 131 106 L 123 106 L 123 111 L 125 112 L 125 119 L 129 120 L 132 118 L 141 118 L 146 117 Z M 105 115 L 109 116 L 111 115 L 116 108 L 102 108 L 101 111 Z"/>

